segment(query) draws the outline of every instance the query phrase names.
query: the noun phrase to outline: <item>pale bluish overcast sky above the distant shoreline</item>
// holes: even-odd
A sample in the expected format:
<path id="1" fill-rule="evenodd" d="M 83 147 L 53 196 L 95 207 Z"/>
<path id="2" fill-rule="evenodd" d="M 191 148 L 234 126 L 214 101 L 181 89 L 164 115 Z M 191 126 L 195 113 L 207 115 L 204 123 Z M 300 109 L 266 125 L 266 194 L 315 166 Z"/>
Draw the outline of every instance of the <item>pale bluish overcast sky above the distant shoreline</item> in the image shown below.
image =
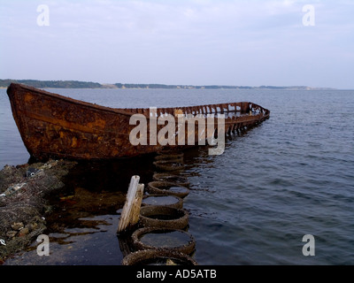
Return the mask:
<path id="1" fill-rule="evenodd" d="M 0 79 L 354 89 L 354 0 L 0 0 Z"/>

